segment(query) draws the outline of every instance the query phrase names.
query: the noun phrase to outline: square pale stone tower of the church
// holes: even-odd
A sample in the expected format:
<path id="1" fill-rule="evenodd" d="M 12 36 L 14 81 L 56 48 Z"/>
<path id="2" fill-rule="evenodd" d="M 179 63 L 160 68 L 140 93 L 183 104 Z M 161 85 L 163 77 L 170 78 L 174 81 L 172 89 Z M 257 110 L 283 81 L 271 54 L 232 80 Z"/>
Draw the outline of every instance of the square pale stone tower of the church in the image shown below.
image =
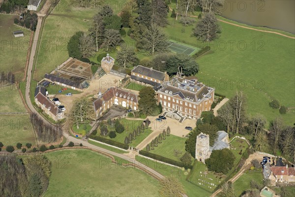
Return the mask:
<path id="1" fill-rule="evenodd" d="M 196 159 L 198 161 L 205 163 L 205 160 L 209 158 L 209 135 L 201 132 L 197 136 L 196 140 Z"/>

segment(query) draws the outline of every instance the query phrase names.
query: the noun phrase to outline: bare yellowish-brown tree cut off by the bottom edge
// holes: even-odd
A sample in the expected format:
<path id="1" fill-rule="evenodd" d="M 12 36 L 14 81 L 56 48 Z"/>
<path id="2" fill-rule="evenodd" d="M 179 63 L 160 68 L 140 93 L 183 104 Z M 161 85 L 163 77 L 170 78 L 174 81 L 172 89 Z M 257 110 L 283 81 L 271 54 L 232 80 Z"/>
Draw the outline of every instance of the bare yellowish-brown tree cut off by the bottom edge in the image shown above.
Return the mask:
<path id="1" fill-rule="evenodd" d="M 184 189 L 178 179 L 171 175 L 160 180 L 159 193 L 161 197 L 182 197 Z"/>

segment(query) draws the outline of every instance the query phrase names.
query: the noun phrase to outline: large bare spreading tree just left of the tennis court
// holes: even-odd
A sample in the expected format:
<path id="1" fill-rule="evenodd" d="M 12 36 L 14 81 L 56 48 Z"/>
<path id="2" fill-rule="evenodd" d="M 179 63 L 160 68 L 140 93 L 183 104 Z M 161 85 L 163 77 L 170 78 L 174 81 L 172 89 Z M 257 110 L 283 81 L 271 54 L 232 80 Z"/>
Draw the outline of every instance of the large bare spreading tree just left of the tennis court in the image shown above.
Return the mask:
<path id="1" fill-rule="evenodd" d="M 148 51 L 150 54 L 154 52 L 163 52 L 167 50 L 168 39 L 164 31 L 154 23 L 145 28 L 142 39 L 139 41 L 139 47 Z"/>

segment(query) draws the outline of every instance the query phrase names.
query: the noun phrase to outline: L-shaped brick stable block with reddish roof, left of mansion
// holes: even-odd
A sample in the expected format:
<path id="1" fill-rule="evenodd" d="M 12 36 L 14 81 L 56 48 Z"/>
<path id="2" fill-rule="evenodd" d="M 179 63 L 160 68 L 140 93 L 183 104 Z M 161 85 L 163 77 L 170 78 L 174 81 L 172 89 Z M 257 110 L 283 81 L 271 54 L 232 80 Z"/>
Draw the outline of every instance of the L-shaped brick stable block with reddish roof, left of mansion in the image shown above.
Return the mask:
<path id="1" fill-rule="evenodd" d="M 103 111 L 112 105 L 120 105 L 133 110 L 138 109 L 138 98 L 136 94 L 118 88 L 109 88 L 104 94 L 98 94 L 98 99 L 93 102 L 96 116 L 100 116 Z"/>

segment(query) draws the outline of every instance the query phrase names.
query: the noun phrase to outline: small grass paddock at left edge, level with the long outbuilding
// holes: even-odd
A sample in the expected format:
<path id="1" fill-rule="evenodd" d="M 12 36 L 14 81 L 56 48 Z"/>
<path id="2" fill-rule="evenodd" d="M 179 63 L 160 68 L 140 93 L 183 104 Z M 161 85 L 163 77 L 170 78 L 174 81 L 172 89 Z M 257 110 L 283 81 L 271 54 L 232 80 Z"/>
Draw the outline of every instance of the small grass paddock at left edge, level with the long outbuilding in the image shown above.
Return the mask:
<path id="1" fill-rule="evenodd" d="M 16 85 L 0 87 L 0 112 L 26 112 Z"/>

